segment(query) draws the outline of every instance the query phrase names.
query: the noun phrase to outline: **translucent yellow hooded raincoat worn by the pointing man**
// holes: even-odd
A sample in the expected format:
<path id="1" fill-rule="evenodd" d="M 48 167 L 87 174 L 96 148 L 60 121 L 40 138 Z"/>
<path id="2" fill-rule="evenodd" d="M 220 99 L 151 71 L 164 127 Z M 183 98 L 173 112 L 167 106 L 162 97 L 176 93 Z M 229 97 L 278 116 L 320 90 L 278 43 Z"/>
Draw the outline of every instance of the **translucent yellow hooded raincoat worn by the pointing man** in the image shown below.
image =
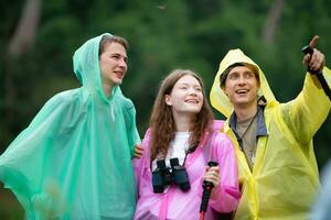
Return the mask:
<path id="1" fill-rule="evenodd" d="M 212 106 L 227 118 L 233 108 L 220 88 L 220 75 L 234 63 L 257 66 L 241 50 L 229 51 L 221 62 L 210 98 Z M 264 118 L 268 135 L 258 139 L 253 172 L 228 127 L 228 120 L 223 128 L 235 143 L 238 161 L 242 199 L 235 219 L 308 219 L 319 188 L 312 138 L 328 117 L 330 100 L 316 78 L 307 74 L 299 96 L 289 102 L 279 103 L 264 73 L 258 69 L 261 82 L 259 94 L 267 99 Z M 323 74 L 330 85 L 330 69 L 324 67 Z"/>

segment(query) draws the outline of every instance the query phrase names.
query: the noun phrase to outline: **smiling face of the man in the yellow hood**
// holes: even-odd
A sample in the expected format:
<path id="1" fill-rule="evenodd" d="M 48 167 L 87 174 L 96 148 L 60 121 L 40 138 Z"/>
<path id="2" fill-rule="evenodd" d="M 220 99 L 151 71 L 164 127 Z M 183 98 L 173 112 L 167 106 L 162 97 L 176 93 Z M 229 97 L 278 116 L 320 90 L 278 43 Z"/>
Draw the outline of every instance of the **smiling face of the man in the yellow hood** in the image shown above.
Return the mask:
<path id="1" fill-rule="evenodd" d="M 223 90 L 234 108 L 246 108 L 256 106 L 258 87 L 253 69 L 247 66 L 236 66 L 229 70 Z"/>

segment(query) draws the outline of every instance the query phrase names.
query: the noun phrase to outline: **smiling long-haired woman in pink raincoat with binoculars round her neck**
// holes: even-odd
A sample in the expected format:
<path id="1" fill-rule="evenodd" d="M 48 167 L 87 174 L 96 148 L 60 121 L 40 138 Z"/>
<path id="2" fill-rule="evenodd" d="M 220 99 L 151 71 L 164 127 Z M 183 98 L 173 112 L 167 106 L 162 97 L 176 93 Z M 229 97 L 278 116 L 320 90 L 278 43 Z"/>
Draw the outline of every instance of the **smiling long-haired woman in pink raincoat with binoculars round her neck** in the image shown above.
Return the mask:
<path id="1" fill-rule="evenodd" d="M 162 81 L 141 144 L 142 156 L 134 161 L 135 219 L 199 219 L 204 180 L 214 185 L 205 219 L 220 219 L 236 209 L 236 158 L 232 142 L 220 132 L 222 125 L 213 120 L 202 80 L 193 72 L 175 69 Z M 180 168 L 170 165 L 177 160 Z M 218 166 L 209 167 L 209 161 Z M 181 183 L 174 177 L 178 169 Z"/>

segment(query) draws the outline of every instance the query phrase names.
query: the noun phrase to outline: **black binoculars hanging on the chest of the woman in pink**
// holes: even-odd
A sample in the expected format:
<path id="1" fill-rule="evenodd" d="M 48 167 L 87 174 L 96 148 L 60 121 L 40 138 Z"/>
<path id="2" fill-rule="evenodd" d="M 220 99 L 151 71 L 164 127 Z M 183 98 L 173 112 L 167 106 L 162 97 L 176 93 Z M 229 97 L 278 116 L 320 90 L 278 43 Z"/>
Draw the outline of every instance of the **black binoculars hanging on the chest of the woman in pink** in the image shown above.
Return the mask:
<path id="1" fill-rule="evenodd" d="M 184 166 L 179 165 L 178 158 L 170 160 L 170 166 L 166 166 L 166 161 L 157 161 L 157 168 L 152 172 L 152 185 L 154 194 L 162 194 L 164 188 L 175 184 L 182 191 L 191 188 L 189 175 Z"/>

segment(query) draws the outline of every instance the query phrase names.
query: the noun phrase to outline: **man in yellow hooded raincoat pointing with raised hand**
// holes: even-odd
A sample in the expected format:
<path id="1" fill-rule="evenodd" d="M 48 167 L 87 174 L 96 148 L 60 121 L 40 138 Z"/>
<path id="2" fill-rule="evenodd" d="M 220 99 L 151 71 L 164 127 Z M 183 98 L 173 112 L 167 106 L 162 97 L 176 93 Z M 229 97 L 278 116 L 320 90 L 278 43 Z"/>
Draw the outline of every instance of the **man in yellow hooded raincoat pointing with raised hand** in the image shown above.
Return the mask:
<path id="1" fill-rule="evenodd" d="M 322 70 L 330 87 L 323 54 L 313 48 L 303 64 Z M 223 130 L 236 148 L 242 199 L 234 219 L 308 219 L 319 188 L 312 138 L 331 106 L 317 77 L 307 74 L 299 96 L 279 103 L 258 65 L 233 50 L 220 64 L 211 102 L 227 118 Z"/>

